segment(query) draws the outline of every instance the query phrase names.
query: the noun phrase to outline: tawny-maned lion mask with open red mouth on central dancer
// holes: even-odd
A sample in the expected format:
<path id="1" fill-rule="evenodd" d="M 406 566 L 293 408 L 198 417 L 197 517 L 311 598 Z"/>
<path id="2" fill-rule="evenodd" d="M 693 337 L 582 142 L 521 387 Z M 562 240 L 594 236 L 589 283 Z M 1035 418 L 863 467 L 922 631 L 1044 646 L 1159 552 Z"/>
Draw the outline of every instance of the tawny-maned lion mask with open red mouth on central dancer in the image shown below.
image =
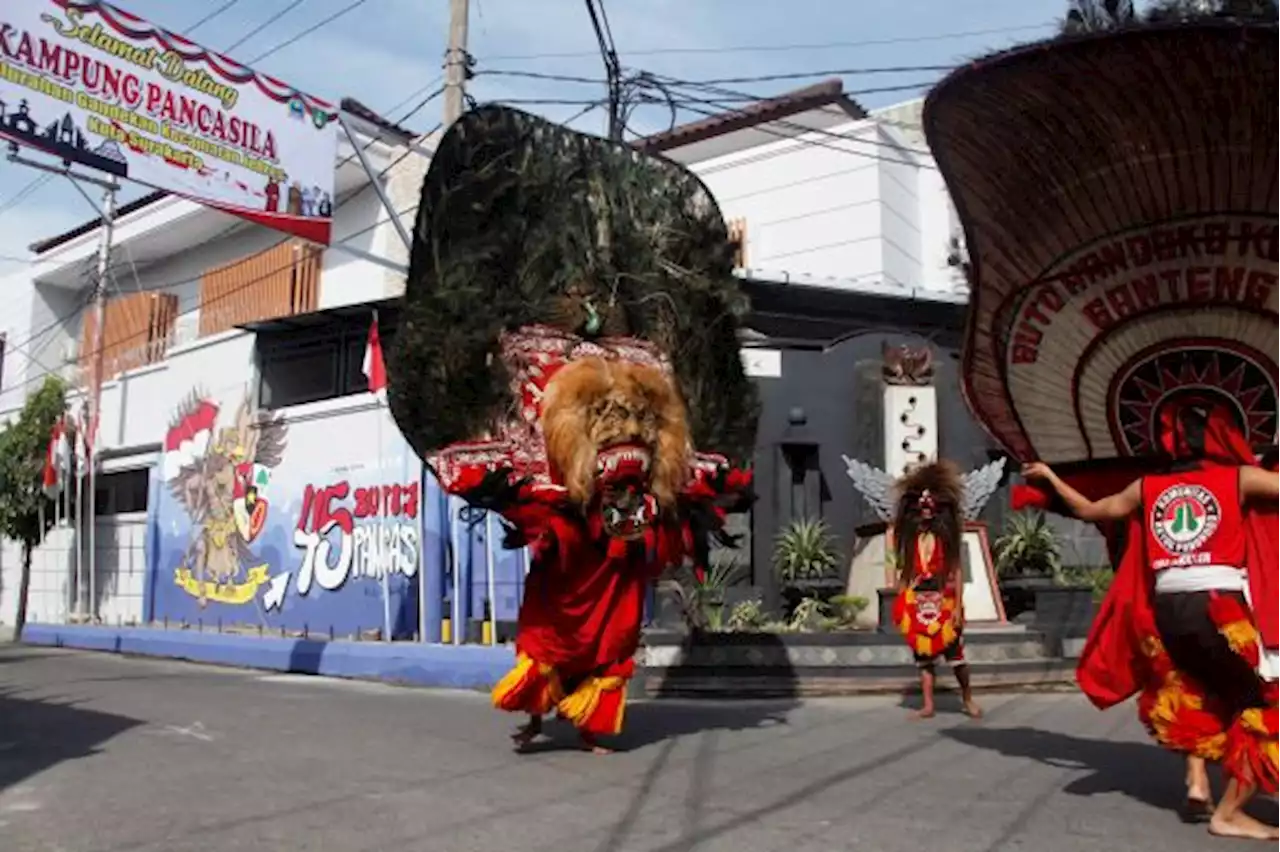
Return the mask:
<path id="1" fill-rule="evenodd" d="M 586 357 L 547 384 L 543 436 L 553 476 L 613 536 L 643 535 L 689 477 L 685 403 L 659 368 Z"/>

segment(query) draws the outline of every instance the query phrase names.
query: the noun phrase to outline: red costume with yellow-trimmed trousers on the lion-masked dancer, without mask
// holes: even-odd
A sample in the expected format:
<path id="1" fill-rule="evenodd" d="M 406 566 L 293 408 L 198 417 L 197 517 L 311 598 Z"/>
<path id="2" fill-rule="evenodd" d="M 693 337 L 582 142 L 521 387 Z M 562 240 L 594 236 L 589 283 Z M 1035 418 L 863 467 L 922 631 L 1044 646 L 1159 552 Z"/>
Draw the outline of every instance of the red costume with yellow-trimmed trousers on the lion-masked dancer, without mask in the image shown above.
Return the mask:
<path id="1" fill-rule="evenodd" d="M 518 383 L 520 416 L 489 441 L 444 450 L 434 468 L 449 494 L 502 514 L 515 545 L 532 558 L 516 636 L 516 667 L 494 687 L 500 710 L 556 711 L 593 736 L 622 729 L 650 583 L 696 558 L 699 536 L 721 528 L 750 490 L 750 473 L 719 455 L 694 457 L 675 512 L 657 512 L 635 540 L 612 537 L 598 504 L 572 504 L 549 463 L 541 400 L 558 370 L 577 357 L 660 363 L 640 340 L 586 342 L 543 326 L 504 336 Z M 585 440 L 585 436 L 584 436 Z M 614 477 L 627 475 L 625 463 Z M 604 475 L 602 475 L 604 476 Z"/>

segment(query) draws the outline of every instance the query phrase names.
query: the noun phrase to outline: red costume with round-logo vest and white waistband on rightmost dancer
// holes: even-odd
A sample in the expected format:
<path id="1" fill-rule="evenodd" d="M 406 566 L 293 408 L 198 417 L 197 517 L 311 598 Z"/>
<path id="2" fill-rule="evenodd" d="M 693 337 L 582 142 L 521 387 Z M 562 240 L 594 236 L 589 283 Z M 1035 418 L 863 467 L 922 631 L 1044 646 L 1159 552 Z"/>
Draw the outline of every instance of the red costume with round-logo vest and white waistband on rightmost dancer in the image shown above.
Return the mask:
<path id="1" fill-rule="evenodd" d="M 1165 449 L 1187 457 L 1187 436 L 1178 429 L 1175 409 L 1165 413 Z M 1142 480 L 1142 512 L 1130 517 L 1123 532 L 1111 531 L 1108 545 L 1119 563 L 1115 578 L 1093 622 L 1076 677 L 1080 688 L 1100 709 L 1139 695 L 1139 718 L 1161 745 L 1208 760 L 1242 783 L 1257 783 L 1274 793 L 1280 789 L 1280 691 L 1276 682 L 1248 675 L 1234 683 L 1215 683 L 1216 673 L 1257 669 L 1261 656 L 1280 650 L 1280 516 L 1274 504 L 1243 505 L 1238 482 L 1242 466 L 1254 455 L 1228 412 L 1211 407 L 1204 446 L 1197 469 L 1147 476 Z M 1088 496 L 1101 499 L 1119 491 L 1117 478 L 1132 472 L 1110 471 L 1064 477 Z M 1021 486 L 1015 504 L 1047 507 L 1043 491 Z M 1201 635 L 1185 649 L 1166 647 L 1162 632 L 1171 632 L 1170 614 L 1157 610 L 1185 595 L 1157 594 L 1157 583 L 1178 580 L 1169 572 L 1188 568 L 1236 567 L 1247 571 L 1242 592 L 1208 590 L 1203 619 L 1225 640 L 1230 654 L 1196 678 L 1181 670 L 1174 656 L 1204 652 L 1215 637 Z M 1167 574 L 1167 577 L 1162 577 Z M 1166 610 L 1171 609 L 1169 606 Z M 1157 623 L 1158 622 L 1158 623 Z M 1185 640 L 1176 637 L 1176 641 Z M 1178 651 L 1171 655 L 1171 650 Z M 1184 658 L 1185 659 L 1185 658 Z"/>

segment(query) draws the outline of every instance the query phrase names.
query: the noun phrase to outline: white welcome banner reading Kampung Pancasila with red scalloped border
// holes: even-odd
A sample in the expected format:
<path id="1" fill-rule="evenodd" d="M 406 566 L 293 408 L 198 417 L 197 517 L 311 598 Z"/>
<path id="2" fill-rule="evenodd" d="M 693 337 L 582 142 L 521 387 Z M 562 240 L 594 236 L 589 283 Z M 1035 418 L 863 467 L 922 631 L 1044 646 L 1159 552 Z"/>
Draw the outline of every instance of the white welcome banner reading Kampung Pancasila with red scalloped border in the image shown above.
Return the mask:
<path id="1" fill-rule="evenodd" d="M 0 137 L 328 244 L 335 107 L 105 3 L 0 0 Z"/>

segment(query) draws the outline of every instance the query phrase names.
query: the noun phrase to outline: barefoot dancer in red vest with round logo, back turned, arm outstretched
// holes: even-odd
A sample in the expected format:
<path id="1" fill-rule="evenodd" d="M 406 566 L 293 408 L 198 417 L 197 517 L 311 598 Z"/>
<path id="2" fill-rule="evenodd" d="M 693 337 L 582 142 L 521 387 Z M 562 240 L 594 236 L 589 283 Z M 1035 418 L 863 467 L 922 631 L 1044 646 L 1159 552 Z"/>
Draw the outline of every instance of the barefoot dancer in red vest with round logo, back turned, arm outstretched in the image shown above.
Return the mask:
<path id="1" fill-rule="evenodd" d="M 1274 542 L 1260 509 L 1280 475 L 1254 457 L 1222 407 L 1165 417 L 1166 452 L 1183 462 L 1089 500 L 1050 467 L 1024 467 L 1082 521 L 1128 522 L 1125 555 L 1082 655 L 1079 681 L 1102 709 L 1140 692 L 1139 716 L 1166 748 L 1220 760 L 1229 782 L 1210 817 L 1220 837 L 1280 840 L 1244 812 L 1280 791 L 1280 599 Z M 1189 761 L 1189 797 L 1208 801 Z"/>

